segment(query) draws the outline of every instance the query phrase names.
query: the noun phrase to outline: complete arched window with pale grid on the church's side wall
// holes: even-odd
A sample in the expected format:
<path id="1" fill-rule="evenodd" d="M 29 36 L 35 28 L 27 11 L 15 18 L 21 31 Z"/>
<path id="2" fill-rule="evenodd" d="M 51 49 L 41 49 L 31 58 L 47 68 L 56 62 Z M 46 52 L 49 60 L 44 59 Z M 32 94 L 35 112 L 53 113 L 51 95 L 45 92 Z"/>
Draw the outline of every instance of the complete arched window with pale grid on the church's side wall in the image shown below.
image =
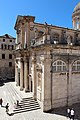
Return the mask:
<path id="1" fill-rule="evenodd" d="M 52 64 L 52 71 L 53 72 L 61 72 L 66 71 L 66 64 L 62 60 L 57 60 Z"/>

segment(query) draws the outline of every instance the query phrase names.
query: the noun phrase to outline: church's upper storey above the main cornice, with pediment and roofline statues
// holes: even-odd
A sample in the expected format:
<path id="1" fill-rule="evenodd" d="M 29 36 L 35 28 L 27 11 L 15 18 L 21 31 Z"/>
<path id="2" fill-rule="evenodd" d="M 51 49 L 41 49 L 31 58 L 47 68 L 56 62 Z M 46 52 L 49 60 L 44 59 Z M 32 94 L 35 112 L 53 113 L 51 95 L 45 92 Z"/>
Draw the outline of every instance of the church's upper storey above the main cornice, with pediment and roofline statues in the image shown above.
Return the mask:
<path id="1" fill-rule="evenodd" d="M 26 18 L 27 17 L 28 16 L 26 16 Z M 17 22 L 20 22 L 22 27 L 18 28 L 18 23 L 15 25 L 15 29 L 17 29 L 17 31 L 21 31 L 17 33 L 18 37 L 16 49 L 26 49 L 27 47 L 30 47 L 30 45 L 38 46 L 46 43 L 80 45 L 79 31 L 52 26 L 48 25 L 47 23 L 37 24 L 34 23 L 34 21 L 27 22 L 24 20 L 24 16 L 21 16 L 21 18 L 17 19 L 19 19 Z M 30 41 L 28 41 L 28 39 L 30 39 Z"/>

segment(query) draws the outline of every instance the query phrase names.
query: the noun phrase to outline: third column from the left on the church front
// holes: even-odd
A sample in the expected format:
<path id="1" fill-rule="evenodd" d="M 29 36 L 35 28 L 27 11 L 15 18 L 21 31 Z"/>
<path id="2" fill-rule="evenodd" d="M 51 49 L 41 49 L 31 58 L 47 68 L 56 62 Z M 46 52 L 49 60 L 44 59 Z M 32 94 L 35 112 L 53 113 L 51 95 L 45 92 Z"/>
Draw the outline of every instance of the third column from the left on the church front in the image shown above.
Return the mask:
<path id="1" fill-rule="evenodd" d="M 28 85 L 29 85 L 29 70 L 28 70 L 28 60 L 27 58 L 24 58 L 24 86 L 25 86 L 25 92 L 28 92 Z"/>

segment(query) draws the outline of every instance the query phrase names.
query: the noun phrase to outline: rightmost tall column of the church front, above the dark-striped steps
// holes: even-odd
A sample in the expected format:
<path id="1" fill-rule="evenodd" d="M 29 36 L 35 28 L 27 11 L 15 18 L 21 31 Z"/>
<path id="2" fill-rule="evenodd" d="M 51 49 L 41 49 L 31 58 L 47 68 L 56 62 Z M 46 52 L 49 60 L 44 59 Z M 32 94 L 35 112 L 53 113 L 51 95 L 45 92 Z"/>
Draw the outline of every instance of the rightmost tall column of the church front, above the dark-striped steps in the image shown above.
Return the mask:
<path id="1" fill-rule="evenodd" d="M 32 57 L 32 81 L 33 81 L 33 97 L 37 98 L 37 85 L 36 85 L 36 58 Z"/>

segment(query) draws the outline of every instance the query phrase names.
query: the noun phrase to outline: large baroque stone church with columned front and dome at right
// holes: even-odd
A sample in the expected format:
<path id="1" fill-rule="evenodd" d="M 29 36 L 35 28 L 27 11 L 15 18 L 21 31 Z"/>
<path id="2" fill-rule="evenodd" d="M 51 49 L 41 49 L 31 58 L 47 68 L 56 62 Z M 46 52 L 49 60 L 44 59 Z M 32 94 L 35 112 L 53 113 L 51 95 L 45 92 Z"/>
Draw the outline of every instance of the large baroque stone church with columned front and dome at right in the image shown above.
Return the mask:
<path id="1" fill-rule="evenodd" d="M 43 111 L 80 102 L 80 3 L 72 23 L 64 28 L 21 15 L 15 23 L 16 85 L 32 92 Z"/>

